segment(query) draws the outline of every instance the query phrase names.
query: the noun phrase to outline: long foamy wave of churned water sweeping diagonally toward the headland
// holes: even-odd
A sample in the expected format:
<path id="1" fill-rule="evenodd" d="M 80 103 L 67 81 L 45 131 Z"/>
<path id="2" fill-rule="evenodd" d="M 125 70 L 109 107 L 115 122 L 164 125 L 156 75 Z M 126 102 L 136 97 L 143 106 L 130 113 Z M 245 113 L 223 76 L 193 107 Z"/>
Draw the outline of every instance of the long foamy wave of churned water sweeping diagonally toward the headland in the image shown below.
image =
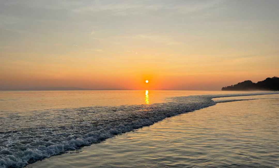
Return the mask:
<path id="1" fill-rule="evenodd" d="M 0 167 L 23 167 L 52 155 L 151 125 L 166 117 L 222 102 L 213 101 L 213 98 L 265 94 L 278 93 L 183 96 L 170 98 L 171 101 L 167 103 L 150 105 L 52 109 L 29 112 L 25 116 L 9 114 L 0 118 Z"/>

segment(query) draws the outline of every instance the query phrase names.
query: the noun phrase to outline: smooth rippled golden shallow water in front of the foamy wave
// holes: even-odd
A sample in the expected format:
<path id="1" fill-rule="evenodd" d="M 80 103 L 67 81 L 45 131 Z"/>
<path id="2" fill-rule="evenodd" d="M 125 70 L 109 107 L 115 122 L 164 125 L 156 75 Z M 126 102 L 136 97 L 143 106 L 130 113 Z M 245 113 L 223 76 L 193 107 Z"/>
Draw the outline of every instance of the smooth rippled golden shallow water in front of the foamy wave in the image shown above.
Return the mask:
<path id="1" fill-rule="evenodd" d="M 279 167 L 279 95 L 231 99 L 29 166 Z"/>

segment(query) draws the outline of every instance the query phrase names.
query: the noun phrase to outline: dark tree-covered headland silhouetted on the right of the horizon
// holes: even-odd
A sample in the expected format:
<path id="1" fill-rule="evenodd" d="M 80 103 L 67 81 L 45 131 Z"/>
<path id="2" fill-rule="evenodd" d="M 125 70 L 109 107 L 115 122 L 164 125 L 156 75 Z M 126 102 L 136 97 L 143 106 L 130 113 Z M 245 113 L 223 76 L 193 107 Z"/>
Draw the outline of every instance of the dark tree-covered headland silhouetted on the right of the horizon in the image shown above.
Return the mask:
<path id="1" fill-rule="evenodd" d="M 279 78 L 274 76 L 253 83 L 251 80 L 239 82 L 236 85 L 222 87 L 222 90 L 271 90 L 279 91 Z"/>

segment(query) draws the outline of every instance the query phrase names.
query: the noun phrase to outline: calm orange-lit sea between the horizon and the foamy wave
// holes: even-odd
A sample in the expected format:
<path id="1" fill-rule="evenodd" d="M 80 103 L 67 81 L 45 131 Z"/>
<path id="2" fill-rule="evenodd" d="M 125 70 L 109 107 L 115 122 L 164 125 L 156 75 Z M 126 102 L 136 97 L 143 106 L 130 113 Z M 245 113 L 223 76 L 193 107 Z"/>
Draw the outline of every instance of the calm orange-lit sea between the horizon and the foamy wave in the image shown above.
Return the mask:
<path id="1" fill-rule="evenodd" d="M 93 105 L 140 105 L 167 101 L 166 97 L 251 93 L 239 91 L 112 90 L 112 91 L 0 91 L 0 112 L 28 112 Z M 256 93 L 256 92 L 255 92 Z"/>

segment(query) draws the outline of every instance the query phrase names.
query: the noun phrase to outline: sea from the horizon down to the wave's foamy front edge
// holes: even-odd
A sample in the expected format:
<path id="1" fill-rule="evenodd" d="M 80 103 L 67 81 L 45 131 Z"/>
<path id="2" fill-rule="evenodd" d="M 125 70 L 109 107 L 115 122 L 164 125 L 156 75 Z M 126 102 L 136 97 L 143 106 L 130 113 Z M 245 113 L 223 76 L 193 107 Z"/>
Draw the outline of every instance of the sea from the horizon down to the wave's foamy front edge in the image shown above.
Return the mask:
<path id="1" fill-rule="evenodd" d="M 268 97 L 276 97 L 274 93 L 277 92 L 116 91 L 114 93 L 113 91 L 102 91 L 102 94 L 99 91 L 95 92 L 87 91 L 80 94 L 75 91 L 62 92 L 61 94 L 59 91 L 1 92 L 2 95 L 6 96 L 1 97 L 1 102 L 5 103 L 1 103 L 3 105 L 1 108 L 4 110 L 1 110 L 0 115 L 0 167 L 22 167 L 30 162 L 78 149 L 84 145 L 98 143 L 114 135 L 151 125 L 166 117 L 215 105 L 216 102 L 235 101 L 236 99 L 277 100 Z M 11 93 L 11 95 L 7 93 Z M 139 93 L 143 93 L 141 99 L 136 96 Z M 201 95 L 195 95 L 196 93 Z M 208 93 L 212 95 L 205 95 Z M 71 96 L 68 98 L 65 94 L 73 94 L 75 95 L 72 97 L 73 100 L 80 99 L 80 101 L 75 103 Z M 98 94 L 101 96 L 96 96 Z M 129 101 L 138 103 L 117 105 L 117 103 L 112 102 L 108 105 L 98 105 L 110 102 L 115 99 L 116 95 L 122 95 L 116 101 L 118 103 Z M 258 96 L 251 98 L 251 95 Z M 242 97 L 230 98 L 230 96 Z M 25 97 L 27 100 L 24 99 Z M 51 100 L 51 97 L 54 100 Z M 101 99 L 96 99 L 98 97 Z M 216 102 L 212 100 L 218 97 L 227 98 L 225 100 L 216 99 Z M 90 101 L 87 100 L 89 98 Z M 44 103 L 41 99 L 47 101 Z M 151 99 L 156 101 L 151 101 Z M 86 106 L 89 102 L 93 105 Z M 140 104 L 140 102 L 144 102 L 144 104 Z M 70 104 L 77 107 L 72 108 Z M 58 108 L 65 105 L 69 107 Z M 49 108 L 44 109 L 44 107 Z M 36 110 L 32 111 L 33 108 Z M 25 111 L 20 111 L 20 109 Z"/>

